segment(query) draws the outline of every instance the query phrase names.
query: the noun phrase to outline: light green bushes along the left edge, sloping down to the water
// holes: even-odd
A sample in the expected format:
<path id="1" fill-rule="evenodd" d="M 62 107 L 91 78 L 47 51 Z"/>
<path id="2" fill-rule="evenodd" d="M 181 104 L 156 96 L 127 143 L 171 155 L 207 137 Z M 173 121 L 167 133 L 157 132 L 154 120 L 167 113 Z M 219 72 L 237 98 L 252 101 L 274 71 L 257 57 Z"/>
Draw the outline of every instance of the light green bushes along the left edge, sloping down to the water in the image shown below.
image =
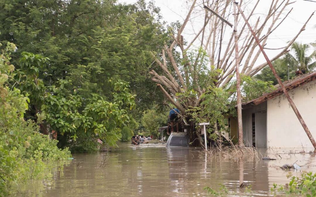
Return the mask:
<path id="1" fill-rule="evenodd" d="M 0 55 L 0 195 L 9 194 L 13 185 L 27 179 L 47 177 L 55 161 L 68 159 L 68 149 L 58 149 L 56 140 L 39 132 L 32 120 L 25 121 L 24 112 L 30 99 L 8 82 L 14 66 L 10 54 L 12 43 L 1 47 Z M 39 119 L 40 121 L 40 119 Z"/>

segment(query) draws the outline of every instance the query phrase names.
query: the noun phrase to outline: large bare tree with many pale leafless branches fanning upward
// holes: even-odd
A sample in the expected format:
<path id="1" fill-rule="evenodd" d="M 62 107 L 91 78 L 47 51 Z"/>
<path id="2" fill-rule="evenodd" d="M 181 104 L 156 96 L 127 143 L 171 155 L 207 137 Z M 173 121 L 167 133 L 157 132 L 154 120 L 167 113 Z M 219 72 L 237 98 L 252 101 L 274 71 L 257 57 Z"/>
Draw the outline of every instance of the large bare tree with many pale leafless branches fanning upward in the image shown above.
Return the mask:
<path id="1" fill-rule="evenodd" d="M 293 8 L 289 8 L 294 2 L 289 0 L 271 0 L 268 13 L 258 14 L 259 0 L 255 3 L 241 1 L 239 4 L 244 9 L 247 20 L 251 21 L 252 28 L 256 36 L 260 39 L 260 43 L 266 46 L 269 36 L 274 32 L 290 14 Z M 189 12 L 186 15 L 182 25 L 172 34 L 172 40 L 169 44 L 165 44 L 160 54 L 152 54 L 155 62 L 160 67 L 159 73 L 157 69 L 152 69 L 150 74 L 152 80 L 157 83 L 161 91 L 167 99 L 176 106 L 182 115 L 190 122 L 187 115 L 188 107 L 197 107 L 201 104 L 201 95 L 205 93 L 208 84 L 200 82 L 200 73 L 210 73 L 216 70 L 216 74 L 212 74 L 214 80 L 209 80 L 216 87 L 225 87 L 229 82 L 234 80 L 236 74 L 235 64 L 235 42 L 233 30 L 224 23 L 218 16 L 210 13 L 203 7 L 206 5 L 214 10 L 218 15 L 228 21 L 234 21 L 232 0 L 209 0 L 199 2 L 193 0 Z M 266 1 L 265 1 L 266 3 Z M 203 16 L 201 28 L 195 31 L 195 35 L 191 40 L 185 41 L 183 34 L 185 29 L 196 22 L 198 16 Z M 260 16 L 260 17 L 258 17 Z M 311 15 L 312 16 L 312 15 Z M 289 51 L 289 47 L 295 42 L 296 38 L 305 29 L 307 19 L 301 29 L 297 30 L 297 34 L 286 44 L 278 49 L 265 48 L 267 50 L 276 50 L 277 54 L 271 58 L 271 61 L 284 55 Z M 238 28 L 238 44 L 239 46 L 239 62 L 240 73 L 246 76 L 253 76 L 261 69 L 268 65 L 267 62 L 258 63 L 258 57 L 261 53 L 255 39 L 248 30 L 245 20 L 237 15 Z M 191 52 L 195 50 L 195 56 L 192 57 Z M 205 55 L 208 58 L 208 66 L 201 67 L 201 57 Z M 180 53 L 181 61 L 177 61 L 175 54 Z M 202 60 L 203 61 L 203 60 Z M 204 76 L 205 77 L 205 76 Z M 180 101 L 177 95 L 185 92 L 194 92 L 195 95 L 190 96 L 184 101 Z M 193 140 L 194 124 L 191 123 L 191 140 Z M 197 135 L 201 141 L 201 136 Z"/>

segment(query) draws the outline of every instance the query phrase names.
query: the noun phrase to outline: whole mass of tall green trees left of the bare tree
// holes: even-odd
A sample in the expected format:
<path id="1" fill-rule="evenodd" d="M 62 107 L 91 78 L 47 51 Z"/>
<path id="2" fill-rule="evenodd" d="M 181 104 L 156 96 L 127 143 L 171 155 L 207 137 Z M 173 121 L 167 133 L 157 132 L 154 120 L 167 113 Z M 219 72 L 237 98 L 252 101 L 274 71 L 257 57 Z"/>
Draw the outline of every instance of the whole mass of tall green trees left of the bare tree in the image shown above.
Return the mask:
<path id="1" fill-rule="evenodd" d="M 162 101 L 145 74 L 165 37 L 153 3 L 4 0 L 0 8 L 0 39 L 17 45 L 10 83 L 29 95 L 25 118 L 41 114 L 41 132 L 57 131 L 59 147 L 114 145 Z"/>

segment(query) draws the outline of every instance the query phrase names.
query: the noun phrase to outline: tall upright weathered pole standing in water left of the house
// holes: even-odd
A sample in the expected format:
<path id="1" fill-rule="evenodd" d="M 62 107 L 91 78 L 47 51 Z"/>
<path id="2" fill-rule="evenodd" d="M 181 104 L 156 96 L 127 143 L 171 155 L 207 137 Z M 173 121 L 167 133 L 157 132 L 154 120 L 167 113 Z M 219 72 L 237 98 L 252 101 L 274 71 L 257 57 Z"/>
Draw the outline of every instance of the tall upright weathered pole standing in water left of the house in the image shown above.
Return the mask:
<path id="1" fill-rule="evenodd" d="M 237 118 L 238 118 L 238 144 L 239 146 L 244 145 L 244 137 L 243 137 L 243 130 L 242 130 L 242 114 L 241 114 L 241 93 L 240 93 L 240 74 L 239 74 L 239 49 L 238 49 L 238 34 L 237 34 L 237 8 L 236 4 L 234 3 L 234 36 L 235 36 L 235 61 L 236 61 L 236 87 L 237 87 Z"/>

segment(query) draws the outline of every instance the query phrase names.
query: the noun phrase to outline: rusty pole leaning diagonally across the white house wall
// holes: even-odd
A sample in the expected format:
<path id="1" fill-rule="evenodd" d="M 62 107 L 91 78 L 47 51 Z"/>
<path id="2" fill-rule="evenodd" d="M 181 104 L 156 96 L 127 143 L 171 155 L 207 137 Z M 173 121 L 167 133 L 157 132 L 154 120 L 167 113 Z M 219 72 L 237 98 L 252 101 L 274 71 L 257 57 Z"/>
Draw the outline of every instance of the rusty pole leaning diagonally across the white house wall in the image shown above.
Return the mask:
<path id="1" fill-rule="evenodd" d="M 257 44 L 258 44 L 258 46 L 259 46 L 259 48 L 260 48 L 262 54 L 264 55 L 265 60 L 268 62 L 269 66 L 270 66 L 270 68 L 271 68 L 271 70 L 272 70 L 272 72 L 273 72 L 273 74 L 274 74 L 274 77 L 276 78 L 276 80 L 277 80 L 278 83 L 280 84 L 280 86 L 281 86 L 281 88 L 282 88 L 282 90 L 283 90 L 284 95 L 285 95 L 286 98 L 288 99 L 288 101 L 289 101 L 291 107 L 293 108 L 294 113 L 296 114 L 296 116 L 297 116 L 297 118 L 299 119 L 299 121 L 300 121 L 302 127 L 304 128 L 304 130 L 305 130 L 305 132 L 306 132 L 306 134 L 307 134 L 309 140 L 312 142 L 313 147 L 314 147 L 314 153 L 316 153 L 316 142 L 315 142 L 315 140 L 314 140 L 314 138 L 313 138 L 311 132 L 309 131 L 309 129 L 308 129 L 308 127 L 307 127 L 305 121 L 303 120 L 303 118 L 302 118 L 300 112 L 299 112 L 298 109 L 296 108 L 296 106 L 295 106 L 293 100 L 291 99 L 291 97 L 290 97 L 288 91 L 287 91 L 286 88 L 284 87 L 284 85 L 283 85 L 283 83 L 282 83 L 280 77 L 276 74 L 276 70 L 275 70 L 274 67 L 272 66 L 272 63 L 271 63 L 271 61 L 269 60 L 267 54 L 264 52 L 264 49 L 263 49 L 262 45 L 260 44 L 259 39 L 256 37 L 255 32 L 252 30 L 252 28 L 251 28 L 251 26 L 250 26 L 248 20 L 246 19 L 245 14 L 244 14 L 243 11 L 241 10 L 241 8 L 240 8 L 240 6 L 238 5 L 237 2 L 234 2 L 234 5 L 237 6 L 237 8 L 238 8 L 240 14 L 241 14 L 242 17 L 244 18 L 244 20 L 245 20 L 245 22 L 246 22 L 246 24 L 247 24 L 249 30 L 250 30 L 251 33 L 252 33 L 253 38 L 256 40 L 256 42 L 257 42 Z"/>

